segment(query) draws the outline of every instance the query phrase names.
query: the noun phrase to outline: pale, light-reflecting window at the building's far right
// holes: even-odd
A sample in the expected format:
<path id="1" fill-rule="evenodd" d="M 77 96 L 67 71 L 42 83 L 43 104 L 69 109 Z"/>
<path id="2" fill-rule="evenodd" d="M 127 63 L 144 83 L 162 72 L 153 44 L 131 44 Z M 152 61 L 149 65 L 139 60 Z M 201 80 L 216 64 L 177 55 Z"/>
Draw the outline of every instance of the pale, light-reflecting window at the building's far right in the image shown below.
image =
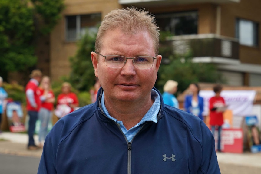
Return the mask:
<path id="1" fill-rule="evenodd" d="M 236 38 L 241 45 L 257 46 L 258 45 L 258 23 L 246 20 L 236 19 Z"/>

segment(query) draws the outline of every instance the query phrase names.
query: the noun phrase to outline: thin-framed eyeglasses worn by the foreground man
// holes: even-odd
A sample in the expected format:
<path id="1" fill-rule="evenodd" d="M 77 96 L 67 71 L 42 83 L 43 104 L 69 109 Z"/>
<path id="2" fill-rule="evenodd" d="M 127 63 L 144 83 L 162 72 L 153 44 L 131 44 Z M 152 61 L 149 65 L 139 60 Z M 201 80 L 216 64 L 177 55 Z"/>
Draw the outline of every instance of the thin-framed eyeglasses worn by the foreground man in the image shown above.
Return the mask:
<path id="1" fill-rule="evenodd" d="M 97 53 L 101 55 L 100 53 Z M 110 68 L 122 68 L 126 64 L 127 59 L 132 59 L 134 67 L 137 69 L 150 69 L 153 66 L 156 57 L 150 56 L 137 56 L 133 58 L 118 56 L 118 55 L 101 55 L 105 58 L 105 64 Z"/>

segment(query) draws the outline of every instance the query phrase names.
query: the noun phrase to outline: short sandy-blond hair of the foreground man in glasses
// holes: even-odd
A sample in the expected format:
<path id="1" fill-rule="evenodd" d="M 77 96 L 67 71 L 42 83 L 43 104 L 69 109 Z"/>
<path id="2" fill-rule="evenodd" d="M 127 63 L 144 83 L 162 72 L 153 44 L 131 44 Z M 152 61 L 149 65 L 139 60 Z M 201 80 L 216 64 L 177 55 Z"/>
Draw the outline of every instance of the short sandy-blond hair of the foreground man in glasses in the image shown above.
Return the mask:
<path id="1" fill-rule="evenodd" d="M 136 8 L 116 9 L 108 13 L 99 27 L 96 41 L 95 51 L 99 53 L 102 48 L 102 38 L 109 29 L 120 29 L 123 33 L 135 34 L 139 31 L 148 31 L 153 42 L 155 54 L 159 50 L 159 29 L 155 22 L 154 16 L 148 11 Z"/>

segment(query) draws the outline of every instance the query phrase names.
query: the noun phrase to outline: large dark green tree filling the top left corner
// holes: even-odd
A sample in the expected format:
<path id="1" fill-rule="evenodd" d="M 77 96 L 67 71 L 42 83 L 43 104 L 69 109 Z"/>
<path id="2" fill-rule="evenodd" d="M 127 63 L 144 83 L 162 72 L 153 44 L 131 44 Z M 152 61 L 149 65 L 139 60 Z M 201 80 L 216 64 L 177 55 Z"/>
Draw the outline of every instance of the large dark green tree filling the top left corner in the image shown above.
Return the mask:
<path id="1" fill-rule="evenodd" d="M 36 39 L 50 33 L 63 8 L 63 0 L 0 0 L 0 76 L 36 64 Z"/>

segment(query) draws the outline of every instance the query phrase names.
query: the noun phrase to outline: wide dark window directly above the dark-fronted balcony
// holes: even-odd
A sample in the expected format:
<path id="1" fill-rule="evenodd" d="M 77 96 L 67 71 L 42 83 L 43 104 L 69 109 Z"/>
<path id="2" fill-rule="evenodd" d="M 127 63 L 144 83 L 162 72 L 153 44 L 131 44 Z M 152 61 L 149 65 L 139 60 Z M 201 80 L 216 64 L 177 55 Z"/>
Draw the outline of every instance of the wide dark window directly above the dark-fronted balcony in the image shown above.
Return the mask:
<path id="1" fill-rule="evenodd" d="M 197 11 L 155 14 L 155 18 L 160 31 L 170 31 L 176 36 L 197 34 Z"/>

